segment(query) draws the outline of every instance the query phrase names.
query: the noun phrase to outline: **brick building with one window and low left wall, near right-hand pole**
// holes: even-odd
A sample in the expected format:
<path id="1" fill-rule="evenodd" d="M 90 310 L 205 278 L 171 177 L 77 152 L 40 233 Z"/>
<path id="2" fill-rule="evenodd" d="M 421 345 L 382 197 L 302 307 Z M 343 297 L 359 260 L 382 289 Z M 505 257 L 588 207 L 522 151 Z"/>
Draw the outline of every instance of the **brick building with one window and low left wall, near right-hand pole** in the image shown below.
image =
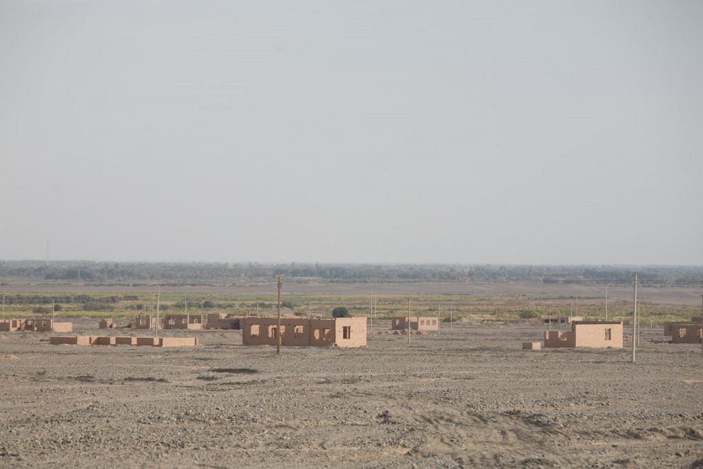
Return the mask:
<path id="1" fill-rule="evenodd" d="M 545 330 L 544 347 L 622 348 L 622 323 L 619 321 L 576 321 L 572 330 Z"/>

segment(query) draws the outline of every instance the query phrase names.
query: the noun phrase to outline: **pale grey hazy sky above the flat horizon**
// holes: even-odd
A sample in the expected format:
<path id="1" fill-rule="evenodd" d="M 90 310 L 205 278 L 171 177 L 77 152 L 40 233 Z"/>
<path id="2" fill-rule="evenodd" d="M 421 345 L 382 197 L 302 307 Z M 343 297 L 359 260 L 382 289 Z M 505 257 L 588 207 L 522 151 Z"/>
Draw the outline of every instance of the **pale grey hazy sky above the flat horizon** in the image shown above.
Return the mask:
<path id="1" fill-rule="evenodd" d="M 0 0 L 0 259 L 703 264 L 703 2 Z"/>

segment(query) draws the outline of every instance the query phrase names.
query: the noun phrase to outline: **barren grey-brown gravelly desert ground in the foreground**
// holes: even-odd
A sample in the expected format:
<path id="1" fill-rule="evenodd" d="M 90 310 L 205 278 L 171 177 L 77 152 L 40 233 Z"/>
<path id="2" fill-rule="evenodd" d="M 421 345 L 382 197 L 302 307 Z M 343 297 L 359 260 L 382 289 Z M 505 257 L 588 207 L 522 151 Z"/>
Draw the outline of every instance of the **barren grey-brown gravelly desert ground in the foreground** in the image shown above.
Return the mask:
<path id="1" fill-rule="evenodd" d="M 172 349 L 1 333 L 0 466 L 703 467 L 700 345 L 644 329 L 632 363 L 628 328 L 624 349 L 542 351 L 520 348 L 537 322 L 389 328 L 280 355 L 237 330 L 162 332 L 200 338 Z"/>

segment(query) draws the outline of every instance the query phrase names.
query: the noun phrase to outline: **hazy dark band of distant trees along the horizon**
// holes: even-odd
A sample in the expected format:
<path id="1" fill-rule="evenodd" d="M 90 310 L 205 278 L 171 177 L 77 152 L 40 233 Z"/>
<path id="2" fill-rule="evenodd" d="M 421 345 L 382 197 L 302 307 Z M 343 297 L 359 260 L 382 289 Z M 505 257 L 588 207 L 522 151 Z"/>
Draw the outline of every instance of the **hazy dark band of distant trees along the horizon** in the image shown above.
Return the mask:
<path id="1" fill-rule="evenodd" d="M 84 285 L 222 285 L 271 281 L 538 282 L 700 286 L 703 266 L 530 266 L 463 264 L 257 264 L 0 261 L 0 285 L 17 281 Z"/>

